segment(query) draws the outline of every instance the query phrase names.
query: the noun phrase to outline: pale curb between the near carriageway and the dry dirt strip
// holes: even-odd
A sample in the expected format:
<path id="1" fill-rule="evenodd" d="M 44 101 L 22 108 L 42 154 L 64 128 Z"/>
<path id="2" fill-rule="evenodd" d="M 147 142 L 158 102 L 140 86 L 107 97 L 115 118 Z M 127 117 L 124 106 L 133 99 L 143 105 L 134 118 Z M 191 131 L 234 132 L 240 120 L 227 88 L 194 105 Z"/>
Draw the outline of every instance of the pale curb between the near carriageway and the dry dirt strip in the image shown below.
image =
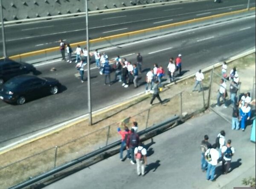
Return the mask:
<path id="1" fill-rule="evenodd" d="M 238 58 L 244 57 L 244 56 L 246 56 L 246 55 L 250 55 L 250 54 L 252 54 L 253 52 L 256 52 L 256 48 L 250 49 L 250 50 L 248 50 L 248 51 L 246 51 L 246 52 L 243 52 L 243 53 L 241 53 L 241 54 L 239 54 L 239 55 L 233 56 L 233 57 L 227 59 L 226 62 L 227 62 L 227 63 L 230 63 L 231 61 L 234 61 L 234 60 L 236 60 L 236 59 L 238 59 Z M 213 67 L 219 67 L 219 66 L 221 66 L 221 65 L 222 65 L 222 62 L 218 62 L 218 63 L 216 63 L 216 64 L 214 64 L 214 65 L 212 65 L 212 66 L 209 66 L 209 67 L 207 67 L 207 68 L 202 69 L 202 72 L 209 71 L 209 70 L 211 70 Z M 188 76 L 183 76 L 183 77 L 181 77 L 179 80 L 177 80 L 176 83 L 182 82 L 182 81 L 184 81 L 184 80 L 186 80 L 186 79 L 189 79 L 189 78 L 191 78 L 191 77 L 194 77 L 194 76 L 195 76 L 194 73 L 191 73 L 191 74 L 188 75 Z M 170 83 L 170 84 L 166 84 L 166 85 L 164 85 L 164 86 L 170 87 L 170 86 L 172 86 L 173 84 L 174 84 L 174 83 Z M 133 102 L 133 101 L 136 100 L 136 99 L 145 98 L 146 96 L 149 96 L 149 95 L 150 95 L 150 94 L 144 93 L 144 92 L 138 93 L 137 95 L 131 97 L 131 99 L 128 99 L 128 100 L 126 100 L 126 101 L 124 101 L 124 102 L 122 102 L 122 103 L 118 103 L 118 104 L 115 104 L 115 105 L 110 105 L 110 106 L 108 106 L 108 107 L 102 108 L 101 110 L 95 111 L 95 112 L 93 113 L 92 117 L 99 116 L 100 114 L 105 113 L 105 112 L 108 112 L 109 110 L 113 110 L 113 109 L 115 109 L 115 108 L 119 108 L 119 107 L 121 107 L 121 106 L 123 106 L 123 105 L 127 105 L 128 103 Z M 78 124 L 78 123 L 80 123 L 80 122 L 86 121 L 88 118 L 85 117 L 85 116 L 87 116 L 87 115 L 88 115 L 88 114 L 84 115 L 84 116 L 83 116 L 84 118 L 79 118 L 79 117 L 78 117 L 78 118 L 75 118 L 75 119 L 79 119 L 79 120 L 76 120 L 76 121 L 74 121 L 74 122 L 72 122 L 72 119 L 69 120 L 69 121 L 66 121 L 66 122 L 71 122 L 71 123 L 63 122 L 62 124 L 64 124 L 64 126 L 61 126 L 61 125 L 60 125 L 59 128 L 54 129 L 54 130 L 52 130 L 52 131 L 49 131 L 49 132 L 47 132 L 46 134 L 41 134 L 40 136 L 36 136 L 36 137 L 33 137 L 33 136 L 32 136 L 32 137 L 31 137 L 32 139 L 25 140 L 24 142 L 20 142 L 20 141 L 19 141 L 19 142 L 17 142 L 17 144 L 13 143 L 13 145 L 12 145 L 12 144 L 9 145 L 10 147 L 8 146 L 8 147 L 0 148 L 0 155 L 5 154 L 5 153 L 7 153 L 7 152 L 9 152 L 9 151 L 12 151 L 12 150 L 14 150 L 14 149 L 16 149 L 16 148 L 19 148 L 20 146 L 23 146 L 23 145 L 26 145 L 26 144 L 28 144 L 28 143 L 34 142 L 34 141 L 36 141 L 36 140 L 39 140 L 39 139 L 41 139 L 41 138 L 47 137 L 47 136 L 49 136 L 49 135 L 51 135 L 51 134 L 54 134 L 54 133 L 56 133 L 56 132 L 59 132 L 59 131 L 61 131 L 61 130 L 63 130 L 63 129 L 69 128 L 69 127 L 71 127 L 71 126 L 73 126 L 73 125 L 76 125 L 76 124 Z M 80 117 L 81 117 L 81 116 L 80 116 Z M 56 125 L 55 125 L 55 126 L 56 126 Z M 54 127 L 54 126 L 53 126 L 53 127 Z M 37 134 L 35 134 L 35 135 L 37 135 Z M 34 135 L 34 136 L 35 136 L 35 135 Z"/>

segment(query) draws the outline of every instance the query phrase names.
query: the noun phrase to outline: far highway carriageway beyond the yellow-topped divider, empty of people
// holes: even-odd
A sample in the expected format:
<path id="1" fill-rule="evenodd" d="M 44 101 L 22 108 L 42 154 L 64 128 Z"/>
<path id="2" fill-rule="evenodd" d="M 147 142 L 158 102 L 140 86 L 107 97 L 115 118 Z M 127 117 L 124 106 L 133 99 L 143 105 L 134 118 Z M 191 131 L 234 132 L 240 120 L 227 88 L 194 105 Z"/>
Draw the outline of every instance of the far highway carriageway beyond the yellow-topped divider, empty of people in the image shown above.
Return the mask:
<path id="1" fill-rule="evenodd" d="M 255 0 L 250 0 L 255 6 Z M 89 16 L 89 38 L 99 38 L 139 29 L 177 23 L 199 17 L 246 9 L 247 0 L 213 0 L 177 3 L 144 9 L 102 13 Z M 49 47 L 57 47 L 62 38 L 66 43 L 86 40 L 85 17 L 12 24 L 5 27 L 7 55 L 16 55 Z M 0 49 L 2 49 L 0 34 Z M 0 50 L 0 57 L 3 56 Z"/>

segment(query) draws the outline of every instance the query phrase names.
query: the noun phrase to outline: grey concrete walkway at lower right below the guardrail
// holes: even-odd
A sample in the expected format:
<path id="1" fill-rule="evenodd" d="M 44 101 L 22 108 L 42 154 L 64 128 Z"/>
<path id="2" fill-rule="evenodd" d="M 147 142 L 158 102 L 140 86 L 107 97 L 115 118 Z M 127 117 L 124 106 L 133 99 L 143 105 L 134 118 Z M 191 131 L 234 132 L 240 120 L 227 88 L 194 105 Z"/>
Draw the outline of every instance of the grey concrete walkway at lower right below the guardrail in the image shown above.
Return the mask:
<path id="1" fill-rule="evenodd" d="M 214 143 L 222 129 L 226 131 L 226 140 L 231 139 L 236 149 L 232 171 L 222 175 L 218 165 L 216 181 L 210 182 L 206 173 L 201 172 L 200 142 L 208 134 L 209 142 Z M 256 150 L 255 143 L 250 142 L 250 130 L 248 126 L 244 132 L 233 131 L 215 113 L 205 113 L 154 137 L 155 143 L 148 147 L 145 177 L 138 177 L 136 165 L 128 160 L 121 162 L 116 154 L 45 189 L 233 189 L 242 186 L 243 178 L 255 176 Z"/>

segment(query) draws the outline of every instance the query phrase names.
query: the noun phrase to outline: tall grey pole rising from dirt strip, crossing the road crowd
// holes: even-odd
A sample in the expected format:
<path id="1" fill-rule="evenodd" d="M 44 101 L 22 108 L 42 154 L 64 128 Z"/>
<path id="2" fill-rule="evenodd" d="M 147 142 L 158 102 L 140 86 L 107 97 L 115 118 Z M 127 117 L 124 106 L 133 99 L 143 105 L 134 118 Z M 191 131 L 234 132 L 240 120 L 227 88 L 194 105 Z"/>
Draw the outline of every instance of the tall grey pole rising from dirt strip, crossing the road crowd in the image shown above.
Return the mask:
<path id="1" fill-rule="evenodd" d="M 90 49 L 89 49 L 89 27 L 88 27 L 88 3 L 85 0 L 86 13 L 86 46 L 87 46 L 87 88 L 88 88 L 88 111 L 89 111 L 89 125 L 92 125 L 92 107 L 91 107 L 91 92 L 90 92 Z"/>

